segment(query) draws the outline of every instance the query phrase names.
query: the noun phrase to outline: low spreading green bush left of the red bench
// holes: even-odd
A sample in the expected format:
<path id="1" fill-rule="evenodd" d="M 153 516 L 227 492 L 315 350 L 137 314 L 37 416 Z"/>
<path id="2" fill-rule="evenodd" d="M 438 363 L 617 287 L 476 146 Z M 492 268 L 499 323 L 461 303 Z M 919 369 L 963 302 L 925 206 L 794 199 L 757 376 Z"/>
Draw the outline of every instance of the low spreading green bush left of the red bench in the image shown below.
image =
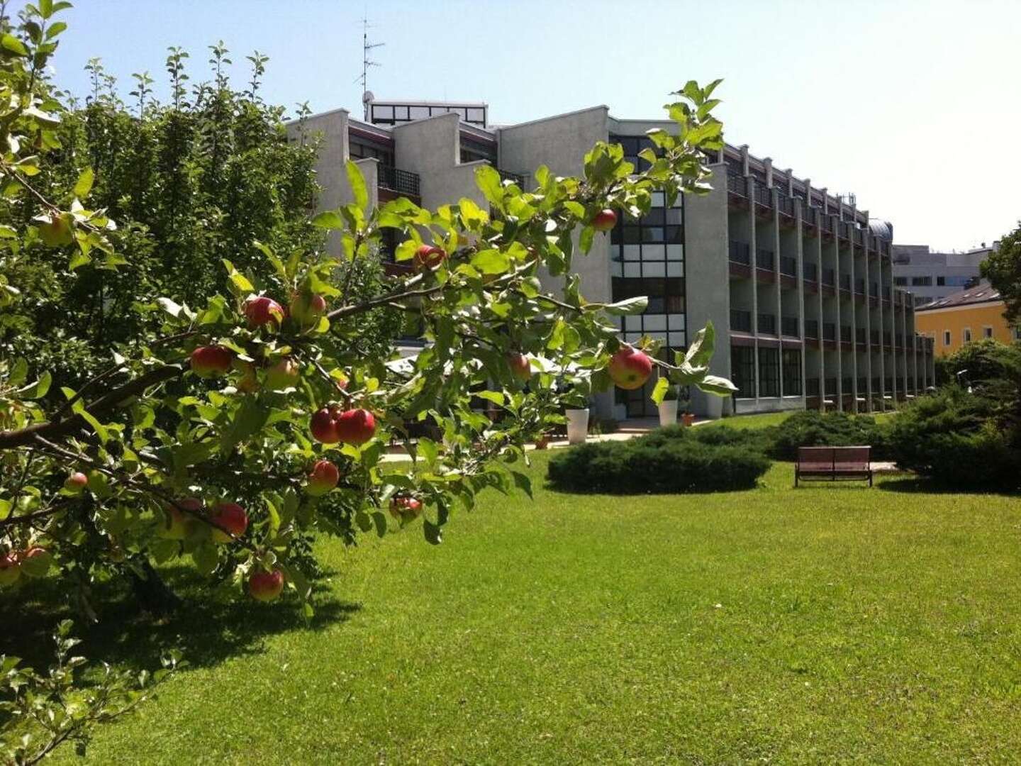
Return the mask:
<path id="1" fill-rule="evenodd" d="M 751 441 L 731 429 L 672 426 L 630 441 L 566 449 L 549 461 L 547 476 L 557 489 L 575 492 L 749 489 L 770 466 Z"/>

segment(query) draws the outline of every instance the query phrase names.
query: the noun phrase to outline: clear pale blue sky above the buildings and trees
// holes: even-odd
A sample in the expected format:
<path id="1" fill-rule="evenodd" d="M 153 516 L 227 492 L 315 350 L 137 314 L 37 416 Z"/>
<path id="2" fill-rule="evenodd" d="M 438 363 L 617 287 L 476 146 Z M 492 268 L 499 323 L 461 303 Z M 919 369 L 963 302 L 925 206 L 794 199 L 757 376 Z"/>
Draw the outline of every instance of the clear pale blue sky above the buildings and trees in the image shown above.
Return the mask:
<path id="1" fill-rule="evenodd" d="M 77 0 L 58 85 L 88 92 L 102 58 L 125 98 L 166 47 L 208 79 L 223 39 L 235 82 L 270 56 L 266 100 L 360 115 L 360 18 L 380 99 L 482 100 L 495 123 L 607 104 L 658 117 L 686 80 L 724 78 L 731 143 L 889 220 L 894 240 L 991 241 L 1021 218 L 1021 0 Z"/>

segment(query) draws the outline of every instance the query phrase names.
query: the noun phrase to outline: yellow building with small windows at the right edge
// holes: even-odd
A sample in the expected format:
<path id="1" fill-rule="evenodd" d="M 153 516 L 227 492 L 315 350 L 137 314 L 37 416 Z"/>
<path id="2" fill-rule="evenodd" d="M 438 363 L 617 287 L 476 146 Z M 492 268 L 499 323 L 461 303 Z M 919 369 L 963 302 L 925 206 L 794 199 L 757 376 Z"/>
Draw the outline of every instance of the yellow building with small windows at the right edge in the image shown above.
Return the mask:
<path id="1" fill-rule="evenodd" d="M 1004 300 L 985 280 L 915 308 L 915 331 L 933 339 L 937 356 L 981 338 L 1021 339 L 1021 328 L 1007 324 Z"/>

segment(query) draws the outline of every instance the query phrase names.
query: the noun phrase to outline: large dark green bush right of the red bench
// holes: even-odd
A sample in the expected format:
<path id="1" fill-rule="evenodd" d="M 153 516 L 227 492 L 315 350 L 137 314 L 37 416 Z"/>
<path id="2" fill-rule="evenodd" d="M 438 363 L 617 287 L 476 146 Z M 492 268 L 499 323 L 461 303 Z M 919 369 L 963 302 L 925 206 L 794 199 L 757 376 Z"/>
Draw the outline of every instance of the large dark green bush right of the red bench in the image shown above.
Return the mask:
<path id="1" fill-rule="evenodd" d="M 889 427 L 891 457 L 947 487 L 1021 488 L 1021 433 L 998 422 L 998 409 L 957 386 L 919 397 Z"/>

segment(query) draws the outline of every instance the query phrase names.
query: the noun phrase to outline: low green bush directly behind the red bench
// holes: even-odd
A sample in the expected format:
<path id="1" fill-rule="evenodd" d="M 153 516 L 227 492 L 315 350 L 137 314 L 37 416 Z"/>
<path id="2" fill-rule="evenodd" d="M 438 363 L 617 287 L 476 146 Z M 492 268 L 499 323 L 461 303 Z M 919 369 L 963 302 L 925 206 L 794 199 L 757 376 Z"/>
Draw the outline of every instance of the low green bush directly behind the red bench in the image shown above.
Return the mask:
<path id="1" fill-rule="evenodd" d="M 794 413 L 778 426 L 763 429 L 766 452 L 774 460 L 793 461 L 803 446 L 872 446 L 873 460 L 886 460 L 886 428 L 867 415 Z"/>

